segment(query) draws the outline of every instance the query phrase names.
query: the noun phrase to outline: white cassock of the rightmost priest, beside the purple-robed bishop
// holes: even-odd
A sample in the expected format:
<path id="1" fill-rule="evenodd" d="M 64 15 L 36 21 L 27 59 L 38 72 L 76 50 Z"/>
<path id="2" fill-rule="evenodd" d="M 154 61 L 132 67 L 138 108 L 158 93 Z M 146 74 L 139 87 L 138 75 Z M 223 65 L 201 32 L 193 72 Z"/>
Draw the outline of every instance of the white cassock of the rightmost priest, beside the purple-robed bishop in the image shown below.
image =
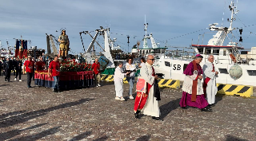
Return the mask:
<path id="1" fill-rule="evenodd" d="M 216 70 L 217 68 L 214 65 L 214 72 L 213 72 L 213 63 L 210 61 L 206 61 L 206 64 L 202 67 L 203 70 L 203 79 L 206 80 L 206 77 L 209 77 L 210 80 L 207 83 L 206 87 L 206 100 L 208 101 L 208 104 L 214 104 L 215 103 L 215 95 L 218 92 L 218 88 L 216 85 Z"/>

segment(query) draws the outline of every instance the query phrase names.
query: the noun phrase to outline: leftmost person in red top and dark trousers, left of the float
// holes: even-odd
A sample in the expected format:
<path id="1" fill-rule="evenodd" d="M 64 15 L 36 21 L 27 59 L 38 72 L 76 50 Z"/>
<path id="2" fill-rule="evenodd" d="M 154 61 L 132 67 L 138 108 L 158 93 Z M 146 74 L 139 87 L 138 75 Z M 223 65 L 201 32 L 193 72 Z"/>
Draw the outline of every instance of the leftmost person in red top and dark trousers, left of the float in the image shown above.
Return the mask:
<path id="1" fill-rule="evenodd" d="M 34 72 L 34 61 L 32 61 L 32 57 L 28 56 L 28 60 L 25 61 L 23 67 L 23 74 L 25 74 L 26 69 L 26 77 L 27 77 L 27 88 L 31 88 L 31 79 Z"/>

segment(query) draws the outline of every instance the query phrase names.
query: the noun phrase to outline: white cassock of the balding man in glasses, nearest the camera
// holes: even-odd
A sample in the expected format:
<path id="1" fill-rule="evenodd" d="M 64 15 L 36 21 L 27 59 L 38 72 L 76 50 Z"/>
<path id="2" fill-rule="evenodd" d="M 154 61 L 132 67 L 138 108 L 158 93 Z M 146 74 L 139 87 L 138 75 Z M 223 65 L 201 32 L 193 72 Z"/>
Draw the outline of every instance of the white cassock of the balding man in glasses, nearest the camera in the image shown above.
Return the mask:
<path id="1" fill-rule="evenodd" d="M 156 97 L 154 97 L 154 76 L 153 74 L 153 69 L 152 66 L 146 63 L 145 65 L 142 66 L 142 69 L 140 71 L 140 75 L 144 80 L 146 80 L 147 83 L 152 85 L 150 88 L 150 92 L 148 94 L 146 104 L 144 108 L 142 109 L 142 114 L 147 115 L 147 116 L 155 116 L 159 117 L 160 116 L 160 109 L 158 106 L 158 100 Z"/>

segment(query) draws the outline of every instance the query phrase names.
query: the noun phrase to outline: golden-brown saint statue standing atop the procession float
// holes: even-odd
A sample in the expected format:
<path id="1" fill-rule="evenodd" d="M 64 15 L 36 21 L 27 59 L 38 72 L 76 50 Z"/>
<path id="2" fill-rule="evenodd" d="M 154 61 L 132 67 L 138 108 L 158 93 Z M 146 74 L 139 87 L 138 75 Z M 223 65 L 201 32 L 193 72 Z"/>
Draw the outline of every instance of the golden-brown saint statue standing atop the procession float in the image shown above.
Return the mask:
<path id="1" fill-rule="evenodd" d="M 69 51 L 70 40 L 66 35 L 66 30 L 62 29 L 62 34 L 58 37 L 59 45 L 59 55 L 62 56 L 63 59 L 66 59 L 67 53 Z"/>

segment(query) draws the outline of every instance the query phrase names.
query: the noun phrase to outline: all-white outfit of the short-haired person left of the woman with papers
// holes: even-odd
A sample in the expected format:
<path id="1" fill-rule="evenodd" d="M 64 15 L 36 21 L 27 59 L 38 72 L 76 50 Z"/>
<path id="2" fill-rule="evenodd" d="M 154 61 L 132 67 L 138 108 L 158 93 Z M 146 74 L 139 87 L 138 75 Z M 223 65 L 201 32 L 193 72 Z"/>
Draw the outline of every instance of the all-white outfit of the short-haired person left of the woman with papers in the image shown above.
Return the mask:
<path id="1" fill-rule="evenodd" d="M 126 76 L 126 73 L 122 73 L 122 69 L 120 67 L 117 67 L 114 70 L 114 87 L 115 87 L 115 92 L 116 96 L 122 97 L 122 80 Z"/>

